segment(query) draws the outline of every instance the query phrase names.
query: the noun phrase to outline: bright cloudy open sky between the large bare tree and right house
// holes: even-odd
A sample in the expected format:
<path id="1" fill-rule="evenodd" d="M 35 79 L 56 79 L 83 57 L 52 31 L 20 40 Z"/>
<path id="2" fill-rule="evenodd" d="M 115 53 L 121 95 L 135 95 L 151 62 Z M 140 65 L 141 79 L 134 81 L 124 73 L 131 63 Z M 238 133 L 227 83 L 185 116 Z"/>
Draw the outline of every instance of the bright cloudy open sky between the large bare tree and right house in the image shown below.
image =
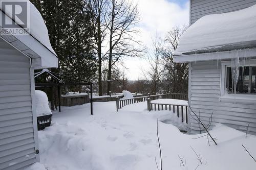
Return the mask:
<path id="1" fill-rule="evenodd" d="M 151 45 L 151 37 L 163 37 L 174 26 L 188 25 L 189 1 L 188 0 L 135 0 L 139 5 L 141 22 L 138 39 L 147 47 Z M 127 69 L 124 69 L 129 80 L 143 79 L 142 69 L 147 69 L 144 59 L 124 59 Z M 123 68 L 122 68 L 123 69 Z"/>

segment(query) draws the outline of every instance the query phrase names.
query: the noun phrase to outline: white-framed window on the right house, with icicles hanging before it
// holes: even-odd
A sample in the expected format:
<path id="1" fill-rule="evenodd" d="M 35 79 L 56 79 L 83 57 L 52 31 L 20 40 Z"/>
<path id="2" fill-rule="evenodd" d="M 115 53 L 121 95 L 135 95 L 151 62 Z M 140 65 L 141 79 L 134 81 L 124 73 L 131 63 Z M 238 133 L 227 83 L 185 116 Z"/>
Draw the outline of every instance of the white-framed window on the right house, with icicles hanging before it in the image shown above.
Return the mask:
<path id="1" fill-rule="evenodd" d="M 231 65 L 231 61 L 221 62 L 220 101 L 255 104 L 256 60 L 245 60 L 243 67 L 234 68 Z M 236 72 L 239 74 L 232 74 Z"/>

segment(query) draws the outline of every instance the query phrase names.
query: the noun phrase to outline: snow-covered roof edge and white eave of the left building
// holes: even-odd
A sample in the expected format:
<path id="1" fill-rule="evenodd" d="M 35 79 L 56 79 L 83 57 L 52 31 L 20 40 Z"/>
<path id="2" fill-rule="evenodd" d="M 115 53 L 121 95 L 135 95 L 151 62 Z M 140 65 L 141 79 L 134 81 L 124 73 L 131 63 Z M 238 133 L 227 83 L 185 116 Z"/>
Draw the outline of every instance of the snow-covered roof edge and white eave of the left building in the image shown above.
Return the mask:
<path id="1" fill-rule="evenodd" d="M 44 19 L 34 5 L 30 1 L 27 2 L 30 11 L 28 33 L 17 35 L 12 33 L 3 34 L 1 32 L 0 37 L 18 51 L 30 57 L 32 66 L 35 69 L 58 67 L 58 58 L 51 46 Z M 5 17 L 6 22 L 15 22 L 20 29 L 24 29 L 20 26 L 22 21 L 12 18 L 13 15 L 8 8 L 2 9 L 1 7 L 1 15 Z M 6 26 L 3 26 L 2 23 L 0 24 L 1 30 L 8 30 L 8 28 L 5 28 Z"/>

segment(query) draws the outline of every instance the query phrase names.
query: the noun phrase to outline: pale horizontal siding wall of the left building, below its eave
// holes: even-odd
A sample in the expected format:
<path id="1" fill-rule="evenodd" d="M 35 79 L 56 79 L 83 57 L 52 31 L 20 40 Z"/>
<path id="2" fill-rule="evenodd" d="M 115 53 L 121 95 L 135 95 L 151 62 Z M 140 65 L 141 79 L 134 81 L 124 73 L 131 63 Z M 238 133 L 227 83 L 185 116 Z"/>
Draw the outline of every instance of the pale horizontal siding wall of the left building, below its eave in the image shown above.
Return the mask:
<path id="1" fill-rule="evenodd" d="M 1 40 L 1 170 L 19 169 L 36 161 L 30 82 L 29 58 Z"/>

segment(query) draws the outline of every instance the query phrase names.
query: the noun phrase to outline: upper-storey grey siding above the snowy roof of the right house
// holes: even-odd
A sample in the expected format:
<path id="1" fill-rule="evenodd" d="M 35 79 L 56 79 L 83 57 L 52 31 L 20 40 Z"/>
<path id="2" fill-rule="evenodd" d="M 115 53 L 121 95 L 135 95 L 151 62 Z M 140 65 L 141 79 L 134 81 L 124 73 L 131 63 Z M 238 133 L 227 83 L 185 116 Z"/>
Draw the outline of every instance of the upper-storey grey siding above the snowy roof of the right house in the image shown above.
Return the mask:
<path id="1" fill-rule="evenodd" d="M 256 4 L 256 0 L 190 0 L 190 25 L 208 14 L 237 11 Z"/>

